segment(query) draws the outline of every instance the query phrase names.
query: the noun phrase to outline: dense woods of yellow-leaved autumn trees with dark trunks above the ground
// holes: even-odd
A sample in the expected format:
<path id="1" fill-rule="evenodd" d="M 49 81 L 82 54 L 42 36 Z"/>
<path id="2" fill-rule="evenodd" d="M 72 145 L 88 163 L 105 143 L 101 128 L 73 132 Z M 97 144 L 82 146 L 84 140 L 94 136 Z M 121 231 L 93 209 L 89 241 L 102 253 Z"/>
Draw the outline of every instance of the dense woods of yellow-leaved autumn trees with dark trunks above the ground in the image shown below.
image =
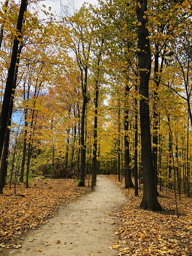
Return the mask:
<path id="1" fill-rule="evenodd" d="M 62 6 L 61 6 L 62 7 Z M 0 193 L 34 176 L 96 174 L 191 195 L 190 0 L 0 4 Z M 134 181 L 134 182 L 133 182 Z"/>

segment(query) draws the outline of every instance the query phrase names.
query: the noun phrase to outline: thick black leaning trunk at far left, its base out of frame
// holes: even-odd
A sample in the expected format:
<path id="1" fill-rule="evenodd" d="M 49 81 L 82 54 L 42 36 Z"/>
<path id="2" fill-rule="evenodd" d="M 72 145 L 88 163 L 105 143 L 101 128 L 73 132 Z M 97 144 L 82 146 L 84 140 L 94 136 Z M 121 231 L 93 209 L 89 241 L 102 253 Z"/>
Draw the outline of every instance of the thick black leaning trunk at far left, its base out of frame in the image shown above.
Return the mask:
<path id="1" fill-rule="evenodd" d="M 8 70 L 8 76 L 7 76 L 7 80 L 6 80 L 6 87 L 5 87 L 5 91 L 4 91 L 4 98 L 3 98 L 2 108 L 1 108 L 1 115 L 0 115 L 0 159 L 1 159 L 1 156 L 2 156 L 4 138 L 5 138 L 5 134 L 6 134 L 9 106 L 10 106 L 10 101 L 11 101 L 12 88 L 13 88 L 13 82 L 14 82 L 14 74 L 15 74 L 15 67 L 16 67 L 16 61 L 17 61 L 17 52 L 18 52 L 19 40 L 20 40 L 21 34 L 22 34 L 22 23 L 23 23 L 24 12 L 26 10 L 26 3 L 27 3 L 27 0 L 22 0 L 21 1 L 20 11 L 19 11 L 19 16 L 18 16 L 18 22 L 17 22 L 18 36 L 14 39 L 14 43 L 13 43 L 13 47 L 12 47 L 10 67 L 9 67 L 9 70 Z"/>

